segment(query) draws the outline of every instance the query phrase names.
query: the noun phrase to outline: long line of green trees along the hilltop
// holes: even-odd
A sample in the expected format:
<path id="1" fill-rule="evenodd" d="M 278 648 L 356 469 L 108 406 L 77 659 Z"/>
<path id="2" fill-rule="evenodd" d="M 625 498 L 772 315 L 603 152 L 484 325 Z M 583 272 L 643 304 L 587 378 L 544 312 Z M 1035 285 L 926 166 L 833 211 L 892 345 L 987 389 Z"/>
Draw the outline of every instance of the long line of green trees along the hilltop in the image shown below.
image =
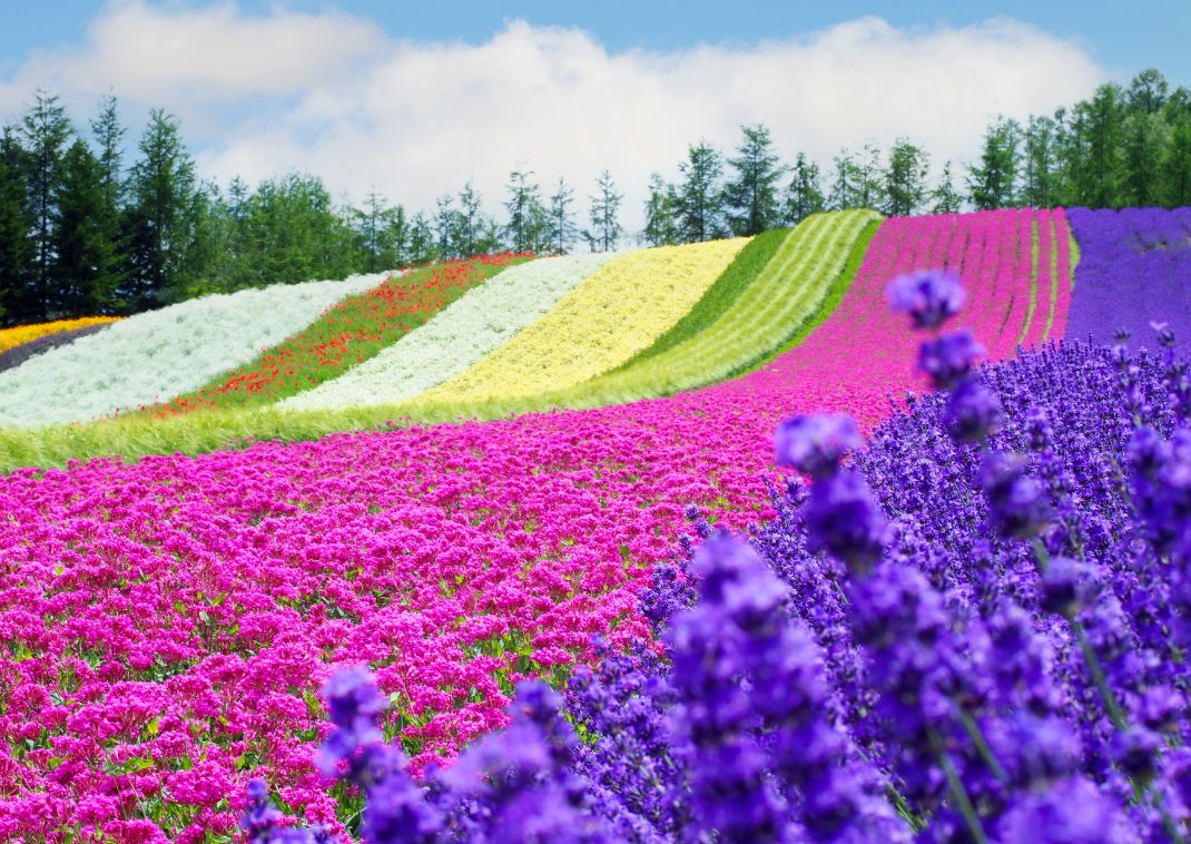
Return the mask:
<path id="1" fill-rule="evenodd" d="M 223 191 L 198 179 L 177 120 L 161 110 L 125 166 L 117 105 L 105 98 L 83 137 L 58 99 L 38 92 L 2 130 L 0 324 L 132 314 L 205 293 L 504 249 L 610 250 L 626 237 L 624 194 L 607 170 L 580 215 L 566 180 L 543 192 L 532 170 L 518 167 L 505 185 L 503 222 L 481 211 L 472 182 L 414 213 L 375 191 L 362 207 L 336 205 L 320 179 L 301 173 L 255 188 L 235 179 Z M 786 163 L 765 125 L 741 126 L 731 154 L 700 142 L 687 148 L 678 179 L 650 176 L 636 240 L 755 235 L 849 207 L 910 216 L 1191 205 L 1191 92 L 1145 70 L 1052 116 L 998 118 L 964 170 L 959 186 L 949 161 L 933 178 L 928 151 L 906 138 L 884 151 L 841 149 L 828 167 L 804 153 Z"/>

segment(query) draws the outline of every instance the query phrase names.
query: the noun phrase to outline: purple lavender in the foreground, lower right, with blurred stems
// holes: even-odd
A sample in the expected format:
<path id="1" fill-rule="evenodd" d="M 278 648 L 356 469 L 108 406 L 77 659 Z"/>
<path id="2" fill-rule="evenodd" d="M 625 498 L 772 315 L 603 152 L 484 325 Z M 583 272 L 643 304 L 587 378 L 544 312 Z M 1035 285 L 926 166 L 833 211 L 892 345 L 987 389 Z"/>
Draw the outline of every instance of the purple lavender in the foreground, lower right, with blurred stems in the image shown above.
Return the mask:
<path id="1" fill-rule="evenodd" d="M 692 533 L 641 596 L 665 653 L 598 641 L 598 669 L 561 695 L 523 682 L 506 730 L 420 782 L 385 741 L 369 675 L 332 677 L 318 759 L 363 798 L 353 831 L 1187 840 L 1191 378 L 1176 336 L 977 368 L 965 329 L 939 331 L 955 283 L 927 281 L 893 302 L 928 331 L 935 392 L 867 443 L 847 417 L 782 422 L 777 461 L 793 471 L 771 484 L 765 526 L 732 535 L 687 508 Z M 326 839 L 291 826 L 263 781 L 242 823 L 254 842 Z"/>

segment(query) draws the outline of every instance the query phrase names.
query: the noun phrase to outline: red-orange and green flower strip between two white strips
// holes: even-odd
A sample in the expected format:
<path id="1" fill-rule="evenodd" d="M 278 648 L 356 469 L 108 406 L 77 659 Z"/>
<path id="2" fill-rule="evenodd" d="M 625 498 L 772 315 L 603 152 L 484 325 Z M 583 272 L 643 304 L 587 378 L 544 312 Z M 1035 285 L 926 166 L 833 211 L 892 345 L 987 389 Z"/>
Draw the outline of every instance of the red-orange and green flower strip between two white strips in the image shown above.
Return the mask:
<path id="1" fill-rule="evenodd" d="M 484 255 L 389 275 L 344 298 L 301 331 L 206 385 L 150 408 L 152 416 L 272 404 L 350 372 L 424 324 L 460 296 L 526 255 Z"/>

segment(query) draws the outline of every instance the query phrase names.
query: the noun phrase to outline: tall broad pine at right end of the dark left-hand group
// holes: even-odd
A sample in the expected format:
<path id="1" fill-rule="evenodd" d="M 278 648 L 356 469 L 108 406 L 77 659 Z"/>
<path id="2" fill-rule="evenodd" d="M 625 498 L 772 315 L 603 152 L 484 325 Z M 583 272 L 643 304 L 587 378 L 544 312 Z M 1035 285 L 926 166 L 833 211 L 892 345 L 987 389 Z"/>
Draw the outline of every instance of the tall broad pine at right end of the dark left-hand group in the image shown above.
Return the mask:
<path id="1" fill-rule="evenodd" d="M 137 149 L 141 159 L 127 186 L 129 275 L 121 291 L 133 311 L 169 300 L 191 242 L 188 212 L 195 187 L 194 162 L 172 114 L 152 110 Z"/>

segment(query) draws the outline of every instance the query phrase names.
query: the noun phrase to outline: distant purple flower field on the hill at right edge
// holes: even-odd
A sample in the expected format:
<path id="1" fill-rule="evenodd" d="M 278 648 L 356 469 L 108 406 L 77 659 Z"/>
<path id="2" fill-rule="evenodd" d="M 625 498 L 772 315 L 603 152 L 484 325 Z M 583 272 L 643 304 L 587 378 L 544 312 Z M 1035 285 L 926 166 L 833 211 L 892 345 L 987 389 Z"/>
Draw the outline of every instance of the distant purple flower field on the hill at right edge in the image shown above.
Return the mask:
<path id="1" fill-rule="evenodd" d="M 1151 323 L 1165 322 L 1191 353 L 1191 207 L 1070 209 L 1067 218 L 1080 249 L 1067 336 L 1111 342 L 1124 328 L 1155 348 Z"/>

